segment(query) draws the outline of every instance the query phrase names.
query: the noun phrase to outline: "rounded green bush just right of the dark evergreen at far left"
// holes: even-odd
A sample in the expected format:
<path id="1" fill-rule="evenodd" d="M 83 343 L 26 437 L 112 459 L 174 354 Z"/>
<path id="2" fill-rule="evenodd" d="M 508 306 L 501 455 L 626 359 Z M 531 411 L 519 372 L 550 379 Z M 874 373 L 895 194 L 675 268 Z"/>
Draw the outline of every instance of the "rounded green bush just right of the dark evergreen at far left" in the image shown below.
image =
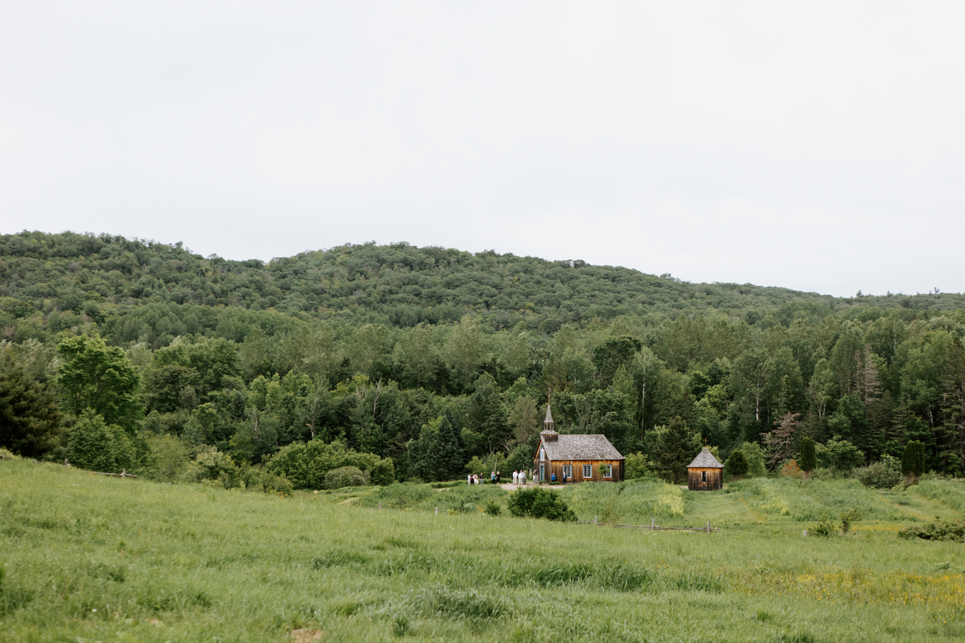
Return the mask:
<path id="1" fill-rule="evenodd" d="M 107 424 L 91 409 L 68 431 L 67 457 L 71 464 L 89 471 L 130 473 L 138 465 L 133 440 L 121 427 Z"/>

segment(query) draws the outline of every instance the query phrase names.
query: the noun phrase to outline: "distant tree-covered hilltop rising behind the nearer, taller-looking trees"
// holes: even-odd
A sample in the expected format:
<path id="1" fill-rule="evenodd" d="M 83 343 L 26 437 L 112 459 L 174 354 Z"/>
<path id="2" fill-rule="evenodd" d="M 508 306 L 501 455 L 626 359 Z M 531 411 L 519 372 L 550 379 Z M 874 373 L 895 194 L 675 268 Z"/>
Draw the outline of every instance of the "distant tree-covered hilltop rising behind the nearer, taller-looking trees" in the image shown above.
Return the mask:
<path id="1" fill-rule="evenodd" d="M 180 243 L 37 232 L 0 237 L 0 283 L 0 308 L 8 318 L 56 310 L 101 321 L 131 306 L 175 303 L 402 327 L 455 322 L 472 312 L 494 329 L 525 321 L 553 332 L 564 323 L 620 315 L 674 318 L 719 310 L 766 326 L 855 307 L 965 308 L 960 294 L 837 298 L 406 243 L 343 245 L 264 264 L 204 258 Z"/>

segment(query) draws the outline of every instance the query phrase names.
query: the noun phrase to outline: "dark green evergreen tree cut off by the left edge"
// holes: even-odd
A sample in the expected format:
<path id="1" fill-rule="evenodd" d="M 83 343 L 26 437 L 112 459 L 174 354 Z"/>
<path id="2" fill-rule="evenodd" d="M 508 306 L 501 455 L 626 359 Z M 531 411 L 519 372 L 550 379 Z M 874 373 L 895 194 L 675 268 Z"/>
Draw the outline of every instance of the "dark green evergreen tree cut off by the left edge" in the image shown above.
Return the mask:
<path id="1" fill-rule="evenodd" d="M 0 447 L 40 458 L 56 446 L 60 422 L 50 387 L 0 355 Z"/>

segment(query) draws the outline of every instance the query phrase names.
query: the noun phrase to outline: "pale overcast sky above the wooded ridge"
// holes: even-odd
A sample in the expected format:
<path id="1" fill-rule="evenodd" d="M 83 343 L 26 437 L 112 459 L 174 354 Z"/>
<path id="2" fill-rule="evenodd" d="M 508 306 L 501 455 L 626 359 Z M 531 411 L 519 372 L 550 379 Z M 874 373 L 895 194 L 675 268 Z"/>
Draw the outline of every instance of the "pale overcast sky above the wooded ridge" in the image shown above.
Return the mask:
<path id="1" fill-rule="evenodd" d="M 965 291 L 965 3 L 0 7 L 2 233 Z"/>

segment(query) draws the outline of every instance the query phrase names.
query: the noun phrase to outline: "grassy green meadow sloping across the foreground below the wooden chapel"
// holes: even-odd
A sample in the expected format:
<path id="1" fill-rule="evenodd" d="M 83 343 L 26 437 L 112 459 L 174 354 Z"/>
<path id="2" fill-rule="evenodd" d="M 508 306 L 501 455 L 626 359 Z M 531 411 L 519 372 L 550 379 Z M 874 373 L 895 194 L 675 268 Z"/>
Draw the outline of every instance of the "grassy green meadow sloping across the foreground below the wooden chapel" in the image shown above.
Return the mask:
<path id="1" fill-rule="evenodd" d="M 965 545 L 896 538 L 914 521 L 960 517 L 962 483 L 561 492 L 580 519 L 722 531 L 490 517 L 483 503 L 508 494 L 495 488 L 280 497 L 0 461 L 0 640 L 965 637 Z M 811 520 L 850 509 L 865 516 L 852 533 L 802 538 Z"/>

